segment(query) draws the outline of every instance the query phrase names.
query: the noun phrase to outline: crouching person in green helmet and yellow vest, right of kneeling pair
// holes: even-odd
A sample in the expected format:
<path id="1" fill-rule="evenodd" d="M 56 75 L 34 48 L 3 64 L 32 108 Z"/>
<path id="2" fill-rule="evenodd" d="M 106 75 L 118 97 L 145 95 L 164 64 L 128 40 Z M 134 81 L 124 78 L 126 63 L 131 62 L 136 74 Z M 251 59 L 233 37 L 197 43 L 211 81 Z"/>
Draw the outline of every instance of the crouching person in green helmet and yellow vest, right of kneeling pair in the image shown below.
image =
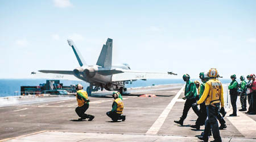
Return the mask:
<path id="1" fill-rule="evenodd" d="M 123 101 L 121 98 L 118 97 L 118 93 L 114 92 L 112 94 L 112 97 L 114 98 L 114 102 L 112 104 L 112 110 L 109 112 L 106 112 L 106 115 L 108 115 L 113 122 L 117 122 L 117 120 L 125 121 L 125 115 L 123 114 Z"/>

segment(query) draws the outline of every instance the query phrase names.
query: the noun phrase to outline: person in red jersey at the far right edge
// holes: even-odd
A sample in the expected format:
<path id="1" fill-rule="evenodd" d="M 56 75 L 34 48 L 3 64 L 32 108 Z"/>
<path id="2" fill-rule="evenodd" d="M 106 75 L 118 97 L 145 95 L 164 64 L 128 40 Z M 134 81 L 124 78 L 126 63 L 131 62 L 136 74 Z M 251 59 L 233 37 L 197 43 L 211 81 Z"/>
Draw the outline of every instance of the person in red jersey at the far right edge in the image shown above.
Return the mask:
<path id="1" fill-rule="evenodd" d="M 256 114 L 256 81 L 255 81 L 255 74 L 250 75 L 251 83 L 251 102 L 250 102 L 250 114 Z"/>

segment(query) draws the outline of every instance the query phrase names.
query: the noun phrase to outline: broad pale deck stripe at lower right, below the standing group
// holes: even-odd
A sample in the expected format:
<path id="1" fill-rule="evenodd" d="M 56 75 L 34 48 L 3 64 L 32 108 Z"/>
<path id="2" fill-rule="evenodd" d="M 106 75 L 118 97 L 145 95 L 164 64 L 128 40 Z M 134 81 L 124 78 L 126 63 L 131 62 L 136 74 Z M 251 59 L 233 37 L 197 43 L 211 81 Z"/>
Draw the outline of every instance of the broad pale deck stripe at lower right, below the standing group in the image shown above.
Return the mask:
<path id="1" fill-rule="evenodd" d="M 234 127 L 246 138 L 254 138 L 256 133 L 256 122 L 247 114 L 237 111 L 237 116 L 229 116 L 232 114 L 232 108 L 226 114 L 226 118 L 233 124 Z"/>

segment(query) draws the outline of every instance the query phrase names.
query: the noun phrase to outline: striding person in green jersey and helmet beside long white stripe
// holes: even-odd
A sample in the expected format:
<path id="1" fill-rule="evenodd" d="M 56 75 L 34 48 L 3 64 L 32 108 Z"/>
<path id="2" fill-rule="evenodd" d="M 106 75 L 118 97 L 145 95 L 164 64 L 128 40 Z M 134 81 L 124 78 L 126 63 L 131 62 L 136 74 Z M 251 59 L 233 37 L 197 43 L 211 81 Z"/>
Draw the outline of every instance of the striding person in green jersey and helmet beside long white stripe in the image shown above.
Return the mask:
<path id="1" fill-rule="evenodd" d="M 188 74 L 183 75 L 183 80 L 186 82 L 186 85 L 185 85 L 185 94 L 184 94 L 185 97 L 183 97 L 182 99 L 186 99 L 186 101 L 184 104 L 183 113 L 182 113 L 182 116 L 180 117 L 180 120 L 179 121 L 174 120 L 175 123 L 180 124 L 181 126 L 183 125 L 185 118 L 187 118 L 188 111 L 192 107 L 192 104 L 196 102 L 196 96 L 197 96 L 196 85 L 189 79 L 190 77 Z"/>

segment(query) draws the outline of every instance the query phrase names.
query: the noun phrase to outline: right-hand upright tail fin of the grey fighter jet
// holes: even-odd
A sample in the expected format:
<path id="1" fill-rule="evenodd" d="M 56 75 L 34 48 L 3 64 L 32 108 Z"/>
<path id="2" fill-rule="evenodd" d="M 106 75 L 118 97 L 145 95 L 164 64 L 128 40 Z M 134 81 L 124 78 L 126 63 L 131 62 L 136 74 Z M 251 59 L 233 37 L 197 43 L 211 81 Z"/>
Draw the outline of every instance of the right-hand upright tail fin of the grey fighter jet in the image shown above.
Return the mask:
<path id="1" fill-rule="evenodd" d="M 96 65 L 99 65 L 102 67 L 112 66 L 112 45 L 113 45 L 113 40 L 108 39 L 106 41 L 106 45 L 103 45 L 101 49 L 101 54 L 100 54 L 100 57 L 98 57 L 98 61 Z"/>

